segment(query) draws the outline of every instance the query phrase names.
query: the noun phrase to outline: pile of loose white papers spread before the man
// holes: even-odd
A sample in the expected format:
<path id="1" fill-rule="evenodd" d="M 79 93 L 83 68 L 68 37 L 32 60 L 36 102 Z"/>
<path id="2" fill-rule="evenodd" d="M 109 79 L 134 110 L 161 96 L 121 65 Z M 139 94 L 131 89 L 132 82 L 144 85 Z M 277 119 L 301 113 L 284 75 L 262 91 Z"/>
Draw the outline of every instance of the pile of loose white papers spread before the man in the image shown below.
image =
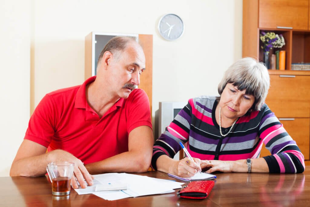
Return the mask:
<path id="1" fill-rule="evenodd" d="M 146 196 L 174 192 L 173 189 L 181 188 L 184 183 L 172 180 L 150 178 L 148 176 L 127 173 L 106 173 L 94 175 L 93 186 L 74 189 L 79 195 L 92 193 L 106 200 L 117 200 L 122 198 Z M 107 185 L 111 182 L 122 182 L 127 184 L 126 190 L 117 191 L 95 191 L 98 185 Z"/>

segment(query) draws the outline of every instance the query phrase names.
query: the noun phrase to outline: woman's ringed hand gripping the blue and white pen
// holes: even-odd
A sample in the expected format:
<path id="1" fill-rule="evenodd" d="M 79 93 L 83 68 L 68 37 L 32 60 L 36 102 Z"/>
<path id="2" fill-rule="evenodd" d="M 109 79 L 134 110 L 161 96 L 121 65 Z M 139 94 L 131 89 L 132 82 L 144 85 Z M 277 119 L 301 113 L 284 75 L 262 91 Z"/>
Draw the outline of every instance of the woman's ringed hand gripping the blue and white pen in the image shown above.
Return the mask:
<path id="1" fill-rule="evenodd" d="M 170 172 L 179 177 L 192 177 L 198 171 L 201 171 L 201 160 L 198 158 L 193 158 L 195 162 L 190 160 L 188 157 L 175 162 Z"/>

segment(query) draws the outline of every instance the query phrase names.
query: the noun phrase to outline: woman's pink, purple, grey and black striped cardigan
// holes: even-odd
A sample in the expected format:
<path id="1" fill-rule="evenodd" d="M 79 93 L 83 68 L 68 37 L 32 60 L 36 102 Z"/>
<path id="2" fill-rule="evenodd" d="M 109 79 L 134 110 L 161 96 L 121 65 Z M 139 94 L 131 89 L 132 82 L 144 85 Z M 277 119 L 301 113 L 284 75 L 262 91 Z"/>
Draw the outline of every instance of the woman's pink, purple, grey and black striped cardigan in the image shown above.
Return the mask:
<path id="1" fill-rule="evenodd" d="M 263 104 L 260 111 L 240 117 L 232 131 L 222 137 L 215 120 L 215 97 L 190 99 L 157 139 L 153 147 L 152 167 L 161 155 L 174 155 L 186 143 L 192 157 L 201 160 L 241 160 L 259 158 L 263 143 L 272 155 L 263 157 L 270 173 L 302 173 L 304 157 L 296 142 L 274 113 Z M 229 128 L 222 128 L 225 134 Z"/>

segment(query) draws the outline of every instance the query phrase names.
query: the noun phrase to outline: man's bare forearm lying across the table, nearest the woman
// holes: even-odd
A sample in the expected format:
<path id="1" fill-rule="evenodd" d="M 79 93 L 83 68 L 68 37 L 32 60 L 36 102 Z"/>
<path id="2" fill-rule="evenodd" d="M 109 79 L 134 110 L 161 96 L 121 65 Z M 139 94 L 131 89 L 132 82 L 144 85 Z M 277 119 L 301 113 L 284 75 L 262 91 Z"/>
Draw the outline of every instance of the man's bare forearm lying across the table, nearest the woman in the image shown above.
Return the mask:
<path id="1" fill-rule="evenodd" d="M 123 152 L 105 160 L 85 165 L 91 174 L 105 172 L 146 172 L 151 164 L 151 153 Z"/>

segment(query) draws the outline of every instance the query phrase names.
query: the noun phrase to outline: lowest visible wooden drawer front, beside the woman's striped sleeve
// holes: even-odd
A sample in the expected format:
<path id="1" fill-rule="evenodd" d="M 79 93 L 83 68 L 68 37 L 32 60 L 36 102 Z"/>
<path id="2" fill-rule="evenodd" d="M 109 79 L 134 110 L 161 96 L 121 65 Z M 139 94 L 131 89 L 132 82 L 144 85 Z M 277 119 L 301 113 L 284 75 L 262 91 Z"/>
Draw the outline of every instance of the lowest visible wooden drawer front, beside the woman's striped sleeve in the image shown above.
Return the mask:
<path id="1" fill-rule="evenodd" d="M 294 120 L 280 120 L 287 133 L 296 141 L 297 146 L 303 153 L 305 160 L 309 160 L 309 127 L 310 119 L 297 118 Z M 266 149 L 263 144 L 260 157 L 270 155 L 270 152 Z"/>

